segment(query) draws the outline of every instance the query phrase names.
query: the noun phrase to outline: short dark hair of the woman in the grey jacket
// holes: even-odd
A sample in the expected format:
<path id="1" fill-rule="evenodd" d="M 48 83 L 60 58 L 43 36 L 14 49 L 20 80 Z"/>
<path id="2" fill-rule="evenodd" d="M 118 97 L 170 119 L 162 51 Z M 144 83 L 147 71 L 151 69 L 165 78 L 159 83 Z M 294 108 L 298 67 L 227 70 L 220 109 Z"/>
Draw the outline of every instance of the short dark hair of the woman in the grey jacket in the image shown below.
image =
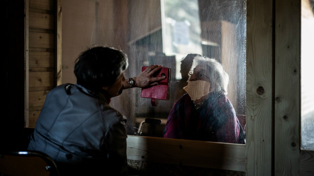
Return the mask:
<path id="1" fill-rule="evenodd" d="M 121 72 L 127 69 L 127 55 L 109 47 L 93 47 L 75 60 L 74 74 L 77 83 L 97 93 L 103 86 L 111 86 Z"/>

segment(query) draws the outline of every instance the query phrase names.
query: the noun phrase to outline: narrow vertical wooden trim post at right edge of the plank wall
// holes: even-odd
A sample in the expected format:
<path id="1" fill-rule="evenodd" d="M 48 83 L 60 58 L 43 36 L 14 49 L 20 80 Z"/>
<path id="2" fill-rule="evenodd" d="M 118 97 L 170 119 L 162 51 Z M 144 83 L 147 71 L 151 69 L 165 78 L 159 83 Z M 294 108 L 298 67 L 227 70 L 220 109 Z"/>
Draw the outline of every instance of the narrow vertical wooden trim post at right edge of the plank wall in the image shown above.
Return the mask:
<path id="1" fill-rule="evenodd" d="M 62 84 L 62 0 L 57 0 L 56 20 L 56 85 Z"/>

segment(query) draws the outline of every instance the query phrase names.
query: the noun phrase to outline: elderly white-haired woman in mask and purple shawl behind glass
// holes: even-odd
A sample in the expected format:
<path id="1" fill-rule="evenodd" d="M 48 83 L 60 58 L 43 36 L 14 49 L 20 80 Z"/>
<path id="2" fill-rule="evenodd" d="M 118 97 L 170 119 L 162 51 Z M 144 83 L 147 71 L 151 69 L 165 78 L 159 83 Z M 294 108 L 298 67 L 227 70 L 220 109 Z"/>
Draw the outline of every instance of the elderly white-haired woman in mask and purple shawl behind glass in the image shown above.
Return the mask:
<path id="1" fill-rule="evenodd" d="M 172 107 L 164 137 L 244 144 L 245 134 L 227 98 L 228 74 L 222 65 L 196 56 L 188 85 Z"/>

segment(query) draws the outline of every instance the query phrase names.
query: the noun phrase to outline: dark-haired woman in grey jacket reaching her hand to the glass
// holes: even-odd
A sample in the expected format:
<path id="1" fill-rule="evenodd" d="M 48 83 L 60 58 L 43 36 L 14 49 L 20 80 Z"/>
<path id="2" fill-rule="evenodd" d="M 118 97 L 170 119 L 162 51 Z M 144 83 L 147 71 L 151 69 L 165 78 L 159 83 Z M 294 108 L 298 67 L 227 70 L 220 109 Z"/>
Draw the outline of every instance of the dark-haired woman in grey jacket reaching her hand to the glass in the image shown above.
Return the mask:
<path id="1" fill-rule="evenodd" d="M 28 150 L 46 153 L 64 175 L 127 175 L 126 118 L 110 99 L 123 89 L 158 84 L 161 65 L 124 77 L 127 56 L 108 47 L 84 51 L 76 60 L 77 84 L 59 85 L 45 100 Z"/>

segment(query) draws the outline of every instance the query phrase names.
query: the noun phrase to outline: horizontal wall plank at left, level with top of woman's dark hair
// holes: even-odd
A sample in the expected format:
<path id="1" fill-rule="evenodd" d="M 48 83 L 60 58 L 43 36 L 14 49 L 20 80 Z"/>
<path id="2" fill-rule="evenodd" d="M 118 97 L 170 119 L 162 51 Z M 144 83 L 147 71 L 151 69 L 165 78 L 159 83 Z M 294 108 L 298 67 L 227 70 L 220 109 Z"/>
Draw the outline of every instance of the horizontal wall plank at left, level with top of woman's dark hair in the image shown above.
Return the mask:
<path id="1" fill-rule="evenodd" d="M 54 60 L 53 52 L 29 52 L 29 67 L 54 67 Z"/>

